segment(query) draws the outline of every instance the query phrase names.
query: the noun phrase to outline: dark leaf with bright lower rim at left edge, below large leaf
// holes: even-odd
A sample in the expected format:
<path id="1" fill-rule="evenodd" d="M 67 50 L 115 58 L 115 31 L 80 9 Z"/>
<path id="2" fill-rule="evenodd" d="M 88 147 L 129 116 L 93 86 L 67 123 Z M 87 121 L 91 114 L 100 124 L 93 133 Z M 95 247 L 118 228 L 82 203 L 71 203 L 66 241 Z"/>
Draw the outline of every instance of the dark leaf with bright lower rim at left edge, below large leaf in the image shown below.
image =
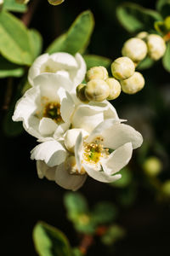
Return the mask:
<path id="1" fill-rule="evenodd" d="M 15 65 L 3 58 L 0 55 L 0 79 L 8 77 L 19 78 L 24 74 L 24 68 Z"/>

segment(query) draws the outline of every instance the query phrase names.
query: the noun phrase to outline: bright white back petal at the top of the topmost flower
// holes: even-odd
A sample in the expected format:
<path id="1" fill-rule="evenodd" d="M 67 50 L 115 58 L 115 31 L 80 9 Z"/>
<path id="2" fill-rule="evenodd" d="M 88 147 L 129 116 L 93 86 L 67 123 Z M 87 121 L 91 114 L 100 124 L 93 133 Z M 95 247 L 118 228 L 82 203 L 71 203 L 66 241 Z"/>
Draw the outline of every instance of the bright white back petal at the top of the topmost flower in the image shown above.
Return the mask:
<path id="1" fill-rule="evenodd" d="M 70 69 L 77 68 L 77 61 L 75 58 L 65 52 L 58 52 L 50 55 L 50 59 L 52 59 L 55 63 L 58 64 L 59 69 Z"/>

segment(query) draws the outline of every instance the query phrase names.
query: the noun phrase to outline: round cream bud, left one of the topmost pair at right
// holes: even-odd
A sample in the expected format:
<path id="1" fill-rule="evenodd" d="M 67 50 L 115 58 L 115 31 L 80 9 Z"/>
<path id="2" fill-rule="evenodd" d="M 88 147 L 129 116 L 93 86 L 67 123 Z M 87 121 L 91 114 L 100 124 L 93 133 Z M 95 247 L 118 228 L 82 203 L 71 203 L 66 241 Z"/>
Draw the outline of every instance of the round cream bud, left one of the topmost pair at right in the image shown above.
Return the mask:
<path id="1" fill-rule="evenodd" d="M 122 55 L 134 62 L 142 61 L 147 55 L 147 46 L 142 39 L 130 38 L 123 44 Z"/>

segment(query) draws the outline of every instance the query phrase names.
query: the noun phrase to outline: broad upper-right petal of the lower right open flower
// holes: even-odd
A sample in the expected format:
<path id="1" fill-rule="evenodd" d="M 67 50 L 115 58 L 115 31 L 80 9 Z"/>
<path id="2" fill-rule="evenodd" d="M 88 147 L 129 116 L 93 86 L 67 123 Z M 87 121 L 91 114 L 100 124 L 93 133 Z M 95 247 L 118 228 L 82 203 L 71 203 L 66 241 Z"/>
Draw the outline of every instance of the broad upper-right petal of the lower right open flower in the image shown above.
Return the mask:
<path id="1" fill-rule="evenodd" d="M 143 137 L 131 127 L 130 125 L 124 125 L 116 123 L 110 128 L 105 129 L 102 132 L 104 137 L 105 148 L 119 148 L 125 143 L 132 143 L 133 149 L 139 148 L 143 143 Z"/>

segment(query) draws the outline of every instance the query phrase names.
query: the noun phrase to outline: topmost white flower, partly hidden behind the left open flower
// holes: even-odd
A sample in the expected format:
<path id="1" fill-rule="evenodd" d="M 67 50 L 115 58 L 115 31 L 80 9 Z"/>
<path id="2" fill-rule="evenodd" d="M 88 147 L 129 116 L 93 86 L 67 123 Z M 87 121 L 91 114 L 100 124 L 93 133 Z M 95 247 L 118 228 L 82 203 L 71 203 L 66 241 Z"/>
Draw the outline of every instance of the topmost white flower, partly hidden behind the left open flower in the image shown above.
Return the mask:
<path id="1" fill-rule="evenodd" d="M 75 57 L 65 52 L 52 55 L 47 53 L 40 55 L 29 70 L 28 80 L 32 86 L 34 85 L 34 79 L 42 73 L 60 74 L 67 79 L 71 79 L 73 84 L 77 86 L 82 83 L 85 77 L 86 63 L 79 53 Z"/>

